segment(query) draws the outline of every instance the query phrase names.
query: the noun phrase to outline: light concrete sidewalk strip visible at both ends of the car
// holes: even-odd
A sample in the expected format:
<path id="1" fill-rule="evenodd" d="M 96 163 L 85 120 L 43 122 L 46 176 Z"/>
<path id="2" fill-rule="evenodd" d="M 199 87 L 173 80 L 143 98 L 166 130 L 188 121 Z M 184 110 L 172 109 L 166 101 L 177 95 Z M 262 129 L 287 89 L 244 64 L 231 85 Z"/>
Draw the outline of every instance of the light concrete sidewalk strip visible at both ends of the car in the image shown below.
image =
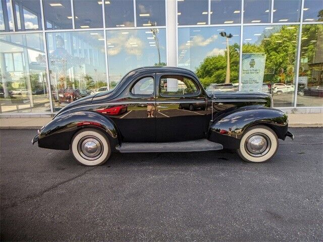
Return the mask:
<path id="1" fill-rule="evenodd" d="M 323 113 L 290 113 L 289 127 L 323 127 Z M 0 118 L 0 129 L 39 129 L 51 117 Z"/>

